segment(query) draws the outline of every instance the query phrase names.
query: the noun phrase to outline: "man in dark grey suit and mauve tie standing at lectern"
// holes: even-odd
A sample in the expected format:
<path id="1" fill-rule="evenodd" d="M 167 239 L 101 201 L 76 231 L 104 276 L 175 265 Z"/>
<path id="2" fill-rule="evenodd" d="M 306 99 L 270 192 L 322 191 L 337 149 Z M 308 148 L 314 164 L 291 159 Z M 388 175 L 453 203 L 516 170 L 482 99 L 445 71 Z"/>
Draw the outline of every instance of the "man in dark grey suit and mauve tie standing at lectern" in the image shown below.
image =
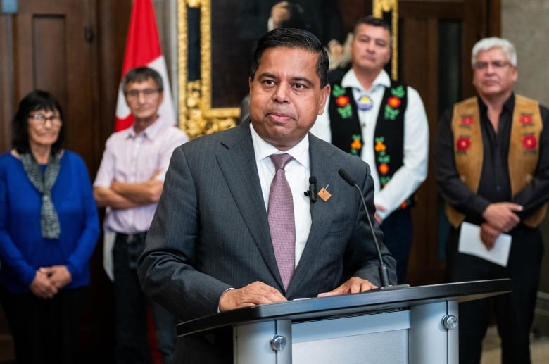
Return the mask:
<path id="1" fill-rule="evenodd" d="M 327 70 L 313 34 L 268 32 L 248 81 L 251 120 L 175 149 L 139 276 L 180 320 L 380 285 L 368 165 L 308 132 L 324 111 Z M 340 169 L 364 194 L 372 228 Z M 380 245 L 394 284 L 395 261 Z M 232 363 L 225 334 L 182 337 L 176 356 Z"/>

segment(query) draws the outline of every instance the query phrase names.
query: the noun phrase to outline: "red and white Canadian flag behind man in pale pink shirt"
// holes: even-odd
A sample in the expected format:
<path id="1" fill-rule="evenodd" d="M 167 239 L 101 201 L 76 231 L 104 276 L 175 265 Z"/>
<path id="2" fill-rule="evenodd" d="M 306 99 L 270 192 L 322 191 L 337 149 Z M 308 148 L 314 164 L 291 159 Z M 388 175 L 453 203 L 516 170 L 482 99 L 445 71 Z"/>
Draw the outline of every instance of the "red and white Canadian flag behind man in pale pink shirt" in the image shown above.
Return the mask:
<path id="1" fill-rule="evenodd" d="M 158 114 L 160 120 L 168 125 L 177 124 L 175 108 L 170 91 L 170 80 L 166 62 L 160 48 L 160 38 L 156 28 L 156 18 L 151 0 L 134 0 L 130 29 L 127 33 L 126 51 L 122 65 L 122 80 L 127 71 L 135 67 L 146 66 L 160 73 L 164 83 L 164 102 L 160 105 Z M 122 83 L 118 89 L 116 103 L 115 132 L 124 130 L 134 123 L 134 118 L 127 106 Z"/>

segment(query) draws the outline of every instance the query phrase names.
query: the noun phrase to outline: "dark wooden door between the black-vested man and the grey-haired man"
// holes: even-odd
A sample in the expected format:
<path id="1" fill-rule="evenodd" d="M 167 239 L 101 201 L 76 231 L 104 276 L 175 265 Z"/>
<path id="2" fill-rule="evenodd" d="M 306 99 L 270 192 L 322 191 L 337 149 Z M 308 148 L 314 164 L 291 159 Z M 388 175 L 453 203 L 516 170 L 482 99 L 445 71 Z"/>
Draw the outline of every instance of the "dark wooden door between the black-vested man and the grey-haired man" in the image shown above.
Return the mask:
<path id="1" fill-rule="evenodd" d="M 399 78 L 422 96 L 429 120 L 429 172 L 412 211 L 414 239 L 408 268 L 412 285 L 443 281 L 448 222 L 434 178 L 434 140 L 446 108 L 475 94 L 471 49 L 500 33 L 500 0 L 398 1 Z"/>

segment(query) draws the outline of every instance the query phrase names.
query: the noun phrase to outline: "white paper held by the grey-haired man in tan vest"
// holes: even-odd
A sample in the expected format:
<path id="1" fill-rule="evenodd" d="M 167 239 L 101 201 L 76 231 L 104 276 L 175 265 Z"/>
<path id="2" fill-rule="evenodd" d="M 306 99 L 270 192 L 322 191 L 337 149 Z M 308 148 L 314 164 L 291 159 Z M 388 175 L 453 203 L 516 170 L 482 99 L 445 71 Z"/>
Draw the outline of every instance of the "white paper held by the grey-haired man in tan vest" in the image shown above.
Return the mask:
<path id="1" fill-rule="evenodd" d="M 486 259 L 503 267 L 507 267 L 509 251 L 511 250 L 511 236 L 500 234 L 491 250 L 486 249 L 480 239 L 480 227 L 469 222 L 462 222 L 458 251 Z"/>

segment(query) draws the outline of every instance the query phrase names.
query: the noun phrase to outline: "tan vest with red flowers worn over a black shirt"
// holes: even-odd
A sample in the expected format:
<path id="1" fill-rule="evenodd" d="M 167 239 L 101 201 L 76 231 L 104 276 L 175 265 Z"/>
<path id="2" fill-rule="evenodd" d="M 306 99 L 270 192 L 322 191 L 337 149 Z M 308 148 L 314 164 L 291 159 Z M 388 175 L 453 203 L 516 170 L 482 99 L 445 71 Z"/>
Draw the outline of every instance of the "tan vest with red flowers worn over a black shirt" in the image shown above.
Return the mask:
<path id="1" fill-rule="evenodd" d="M 516 95 L 507 156 L 512 196 L 521 191 L 533 178 L 538 165 L 538 141 L 542 129 L 543 123 L 538 101 Z M 454 106 L 452 131 L 457 172 L 467 187 L 477 192 L 483 162 L 482 132 L 477 97 L 472 97 Z M 537 227 L 545 217 L 546 210 L 547 205 L 545 204 L 524 220 L 524 224 L 529 227 Z M 448 204 L 446 205 L 446 215 L 450 224 L 456 229 L 465 220 L 465 215 Z"/>

